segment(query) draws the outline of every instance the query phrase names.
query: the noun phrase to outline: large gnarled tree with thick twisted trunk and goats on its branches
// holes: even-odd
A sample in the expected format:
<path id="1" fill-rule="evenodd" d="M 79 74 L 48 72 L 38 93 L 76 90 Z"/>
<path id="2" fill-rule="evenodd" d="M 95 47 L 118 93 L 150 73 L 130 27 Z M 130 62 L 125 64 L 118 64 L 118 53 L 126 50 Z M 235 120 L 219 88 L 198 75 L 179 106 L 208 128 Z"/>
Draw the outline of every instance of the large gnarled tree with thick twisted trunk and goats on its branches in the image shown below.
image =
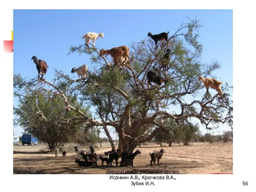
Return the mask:
<path id="1" fill-rule="evenodd" d="M 65 110 L 80 115 L 72 118 L 60 117 L 61 123 L 67 126 L 78 120 L 91 126 L 102 126 L 109 139 L 107 127 L 116 129 L 121 153 L 133 151 L 138 144 L 152 139 L 165 126 L 165 119 L 168 118 L 176 123 L 199 119 L 207 129 L 218 127 L 220 123 L 228 123 L 232 127 L 232 87 L 223 82 L 225 97 L 221 98 L 206 95 L 206 89 L 198 81 L 199 75 L 217 78 L 213 71 L 220 67 L 217 62 L 205 65 L 201 61 L 203 47 L 198 42 L 198 30 L 201 27 L 199 21 L 194 19 L 182 23 L 176 32 L 169 35 L 169 70 L 162 71 L 159 67 L 167 49 L 166 42 L 159 42 L 158 49 L 155 50 L 155 43 L 149 37 L 138 43 L 131 43 L 129 62 L 118 66 L 113 66 L 110 55 L 99 56 L 103 47 L 87 48 L 79 45 L 70 47 L 68 54 L 90 55 L 90 74 L 86 80 L 74 81 L 62 71 L 56 71 L 53 82 L 37 80 L 30 84 L 30 89 L 36 86 L 36 89 L 47 92 L 50 97 L 62 97 Z M 168 77 L 169 81 L 161 86 L 148 86 L 146 73 L 149 70 Z M 24 83 L 27 81 L 20 79 L 17 84 Z M 94 107 L 96 119 L 73 106 L 63 87 L 72 90 L 70 92 L 78 97 L 82 105 Z"/>

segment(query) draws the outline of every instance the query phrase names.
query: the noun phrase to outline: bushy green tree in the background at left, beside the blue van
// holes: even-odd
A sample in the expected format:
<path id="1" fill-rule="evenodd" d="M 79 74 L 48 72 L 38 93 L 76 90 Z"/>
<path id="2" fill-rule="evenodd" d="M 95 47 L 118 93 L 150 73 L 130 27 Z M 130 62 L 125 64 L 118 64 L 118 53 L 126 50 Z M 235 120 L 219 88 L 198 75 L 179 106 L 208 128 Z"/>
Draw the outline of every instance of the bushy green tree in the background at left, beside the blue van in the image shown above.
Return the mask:
<path id="1" fill-rule="evenodd" d="M 46 142 L 50 150 L 54 146 L 61 148 L 66 142 L 87 144 L 95 140 L 95 134 L 83 122 L 62 123 L 63 119 L 72 118 L 76 113 L 65 110 L 61 97 L 56 96 L 48 100 L 46 94 L 34 90 L 27 92 L 26 95 L 15 94 L 19 97 L 20 103 L 14 108 L 17 117 L 15 122 L 24 129 L 24 132 Z M 70 98 L 70 102 L 83 113 L 88 113 L 88 108 L 82 108 L 75 98 Z"/>

